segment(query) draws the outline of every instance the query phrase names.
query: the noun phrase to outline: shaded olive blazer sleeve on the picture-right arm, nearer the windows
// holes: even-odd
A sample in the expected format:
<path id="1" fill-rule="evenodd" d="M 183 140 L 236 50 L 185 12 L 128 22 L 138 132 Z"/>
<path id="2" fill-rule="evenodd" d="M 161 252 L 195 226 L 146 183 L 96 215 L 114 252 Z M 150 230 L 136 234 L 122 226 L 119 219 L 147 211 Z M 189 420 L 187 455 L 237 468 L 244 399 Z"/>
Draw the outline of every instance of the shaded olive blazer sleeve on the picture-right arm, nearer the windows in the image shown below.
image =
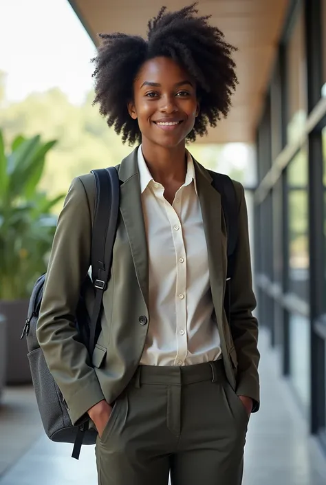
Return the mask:
<path id="1" fill-rule="evenodd" d="M 248 213 L 243 186 L 234 182 L 239 202 L 238 239 L 235 252 L 235 267 L 231 281 L 230 321 L 232 338 L 237 352 L 237 394 L 252 398 L 259 409 L 259 350 L 258 322 L 252 315 L 256 299 L 252 290 L 252 268 L 248 235 Z"/>

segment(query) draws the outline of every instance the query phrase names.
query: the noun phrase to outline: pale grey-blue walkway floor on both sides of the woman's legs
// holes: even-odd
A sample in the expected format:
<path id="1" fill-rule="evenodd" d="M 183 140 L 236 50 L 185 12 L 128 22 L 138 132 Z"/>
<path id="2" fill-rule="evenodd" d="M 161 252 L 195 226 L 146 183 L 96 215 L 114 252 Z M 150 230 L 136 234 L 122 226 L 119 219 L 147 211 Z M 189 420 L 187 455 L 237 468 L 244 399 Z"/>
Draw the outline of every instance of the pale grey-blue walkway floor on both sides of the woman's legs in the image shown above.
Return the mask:
<path id="1" fill-rule="evenodd" d="M 326 460 L 278 377 L 276 358 L 261 332 L 261 410 L 252 416 L 246 445 L 243 485 L 325 485 Z M 0 414 L 0 444 L 6 442 Z M 8 429 L 8 433 L 10 430 Z M 17 442 L 21 436 L 14 429 Z M 72 446 L 43 435 L 0 477 L 0 485 L 95 485 L 94 447 L 85 446 L 79 462 Z"/>

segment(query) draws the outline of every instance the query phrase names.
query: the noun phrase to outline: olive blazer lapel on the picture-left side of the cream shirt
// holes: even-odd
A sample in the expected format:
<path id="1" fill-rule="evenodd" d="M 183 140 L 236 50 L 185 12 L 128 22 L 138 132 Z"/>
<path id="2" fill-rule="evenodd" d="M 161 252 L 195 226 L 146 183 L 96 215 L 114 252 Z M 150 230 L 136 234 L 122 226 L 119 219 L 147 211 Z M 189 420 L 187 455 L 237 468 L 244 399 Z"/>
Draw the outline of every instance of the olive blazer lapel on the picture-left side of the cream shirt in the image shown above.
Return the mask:
<path id="1" fill-rule="evenodd" d="M 122 182 L 120 185 L 120 213 L 126 226 L 138 283 L 148 307 L 149 263 L 140 195 L 137 152 L 138 148 L 127 158 L 124 158 L 120 164 L 119 178 L 120 182 Z"/>

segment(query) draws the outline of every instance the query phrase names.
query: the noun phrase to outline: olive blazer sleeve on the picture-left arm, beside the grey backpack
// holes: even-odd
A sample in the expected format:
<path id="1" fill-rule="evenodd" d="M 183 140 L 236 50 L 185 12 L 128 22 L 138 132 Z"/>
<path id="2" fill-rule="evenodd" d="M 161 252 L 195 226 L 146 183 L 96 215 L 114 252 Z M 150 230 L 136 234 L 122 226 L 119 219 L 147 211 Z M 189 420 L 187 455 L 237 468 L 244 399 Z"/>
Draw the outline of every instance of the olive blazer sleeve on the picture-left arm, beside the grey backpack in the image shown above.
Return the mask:
<path id="1" fill-rule="evenodd" d="M 73 424 L 104 399 L 74 324 L 80 286 L 90 266 L 91 213 L 83 182 L 72 181 L 58 217 L 45 278 L 36 336 L 47 366 L 67 402 Z"/>

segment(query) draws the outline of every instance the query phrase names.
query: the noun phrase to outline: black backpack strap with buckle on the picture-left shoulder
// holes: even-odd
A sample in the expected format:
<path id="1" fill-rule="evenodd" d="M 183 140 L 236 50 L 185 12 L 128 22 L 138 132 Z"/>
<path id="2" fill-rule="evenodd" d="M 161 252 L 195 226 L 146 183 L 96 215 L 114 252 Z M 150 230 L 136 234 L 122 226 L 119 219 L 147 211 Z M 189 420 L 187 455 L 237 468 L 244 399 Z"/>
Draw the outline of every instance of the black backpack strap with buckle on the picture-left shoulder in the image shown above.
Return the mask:
<path id="1" fill-rule="evenodd" d="M 91 171 L 95 177 L 95 215 L 91 237 L 91 274 L 95 289 L 95 301 L 91 315 L 89 352 L 95 348 L 103 292 L 110 277 L 113 244 L 120 204 L 120 182 L 114 166 Z"/>

